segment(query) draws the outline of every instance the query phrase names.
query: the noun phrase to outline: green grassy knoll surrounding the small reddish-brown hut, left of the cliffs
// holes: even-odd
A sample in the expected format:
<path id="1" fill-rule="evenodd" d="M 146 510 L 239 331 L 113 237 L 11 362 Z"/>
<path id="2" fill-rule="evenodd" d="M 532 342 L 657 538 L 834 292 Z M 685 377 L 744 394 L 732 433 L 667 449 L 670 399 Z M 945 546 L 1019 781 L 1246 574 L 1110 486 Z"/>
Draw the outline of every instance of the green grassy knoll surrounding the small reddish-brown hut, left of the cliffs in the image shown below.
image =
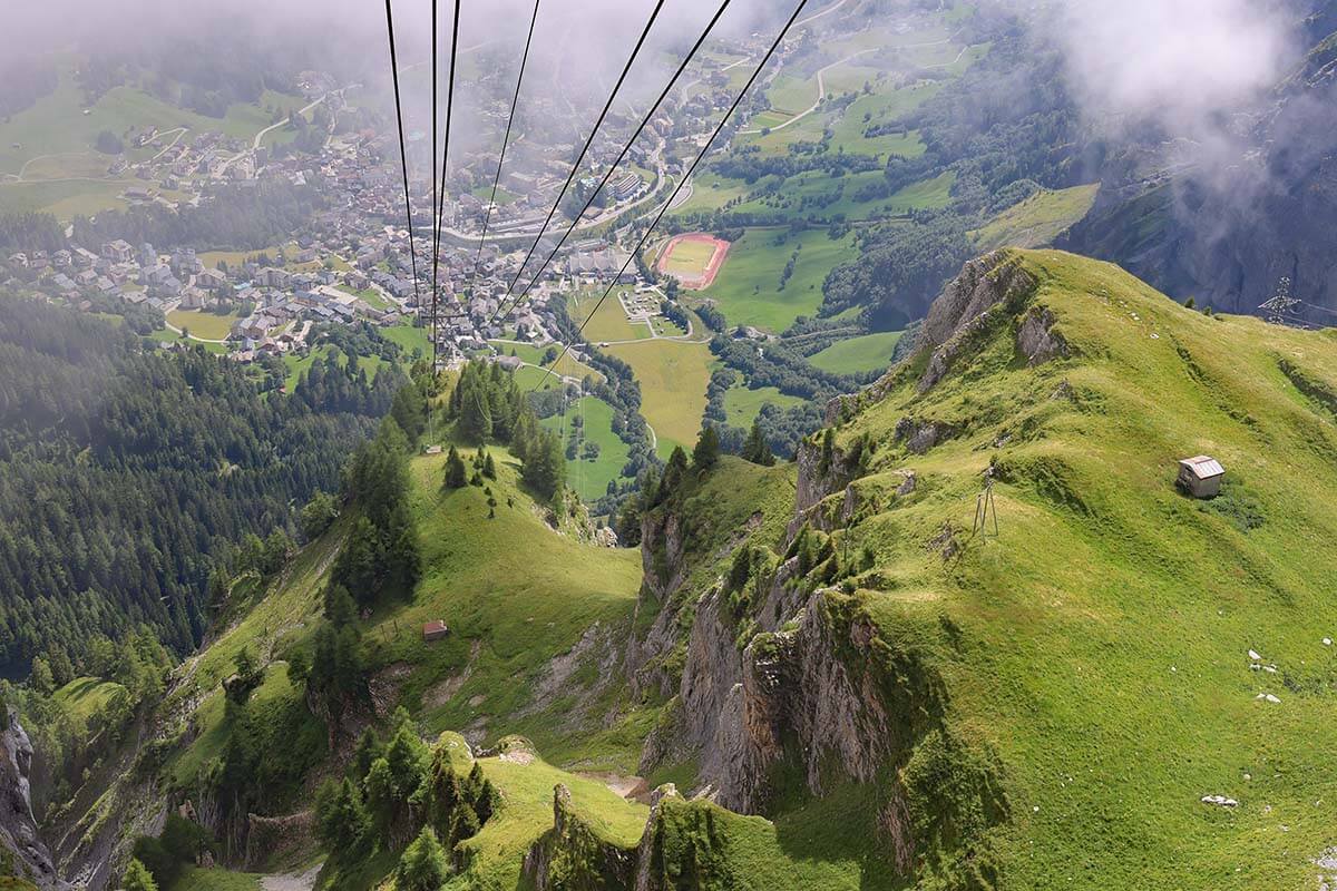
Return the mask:
<path id="1" fill-rule="evenodd" d="M 444 454 L 413 460 L 424 576 L 412 604 L 372 620 L 369 655 L 377 669 L 390 668 L 400 701 L 433 733 L 521 732 L 543 747 L 576 747 L 603 732 L 606 712 L 582 716 L 536 701 L 533 691 L 548 661 L 590 627 L 631 616 L 640 558 L 554 532 L 547 512 L 520 489 L 519 462 L 500 446 L 488 450 L 497 465 L 497 480 L 487 481 L 497 502 L 492 518 L 483 486 L 441 490 Z M 452 633 L 428 644 L 421 628 L 436 618 Z M 636 751 L 639 741 L 628 743 L 610 767 L 634 768 Z"/>

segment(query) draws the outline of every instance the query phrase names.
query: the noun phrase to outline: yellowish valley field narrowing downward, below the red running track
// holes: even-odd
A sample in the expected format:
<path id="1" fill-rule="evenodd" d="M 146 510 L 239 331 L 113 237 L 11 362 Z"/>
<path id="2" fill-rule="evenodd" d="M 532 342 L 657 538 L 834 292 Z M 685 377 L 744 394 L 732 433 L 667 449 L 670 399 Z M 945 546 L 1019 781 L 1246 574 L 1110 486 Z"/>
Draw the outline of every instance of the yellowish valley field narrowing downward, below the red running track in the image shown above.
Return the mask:
<path id="1" fill-rule="evenodd" d="M 644 341 L 606 350 L 631 366 L 640 383 L 640 413 L 655 430 L 658 453 L 675 445 L 691 449 L 706 414 L 706 385 L 713 357 L 705 343 Z"/>

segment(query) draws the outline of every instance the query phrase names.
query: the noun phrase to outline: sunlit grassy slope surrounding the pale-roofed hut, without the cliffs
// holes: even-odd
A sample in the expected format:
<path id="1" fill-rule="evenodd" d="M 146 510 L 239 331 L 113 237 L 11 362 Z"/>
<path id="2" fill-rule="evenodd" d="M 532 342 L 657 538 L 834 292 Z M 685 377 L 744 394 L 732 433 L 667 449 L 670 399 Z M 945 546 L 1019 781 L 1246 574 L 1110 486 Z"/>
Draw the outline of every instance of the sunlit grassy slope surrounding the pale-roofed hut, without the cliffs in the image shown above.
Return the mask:
<path id="1" fill-rule="evenodd" d="M 1079 358 L 1027 369 L 1004 330 L 841 434 L 890 442 L 912 413 L 971 425 L 923 457 L 880 452 L 860 481 L 890 505 L 849 533 L 877 549 L 869 609 L 884 635 L 959 629 L 935 667 L 953 720 L 1004 765 L 1005 887 L 1312 887 L 1337 806 L 1321 643 L 1337 552 L 1313 546 L 1337 529 L 1337 399 L 1320 406 L 1280 363 L 1337 391 L 1333 338 L 1207 318 L 1104 263 L 1024 262 Z M 1074 398 L 1052 398 L 1064 379 Z M 1198 453 L 1229 470 L 1211 504 L 1173 485 Z M 925 542 L 944 522 L 969 530 L 992 454 L 1001 536 L 961 533 L 944 565 Z M 889 494 L 901 466 L 920 476 L 906 501 Z M 1277 673 L 1250 671 L 1250 648 Z"/>

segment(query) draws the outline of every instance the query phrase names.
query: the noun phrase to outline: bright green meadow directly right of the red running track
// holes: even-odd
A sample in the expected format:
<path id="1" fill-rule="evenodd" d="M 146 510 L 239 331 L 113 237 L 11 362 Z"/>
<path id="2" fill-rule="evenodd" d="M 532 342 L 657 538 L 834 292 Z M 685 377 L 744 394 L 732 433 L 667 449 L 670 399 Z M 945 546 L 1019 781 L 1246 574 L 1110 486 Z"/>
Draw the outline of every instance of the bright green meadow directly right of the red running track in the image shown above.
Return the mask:
<path id="1" fill-rule="evenodd" d="M 714 299 L 730 325 L 753 325 L 779 333 L 800 315 L 812 315 L 822 302 L 822 282 L 840 263 L 854 256 L 854 240 L 838 240 L 826 230 L 809 230 L 775 244 L 779 230 L 751 228 L 729 248 L 714 285 L 702 291 Z M 779 290 L 779 277 L 794 247 L 801 244 L 794 274 Z"/>

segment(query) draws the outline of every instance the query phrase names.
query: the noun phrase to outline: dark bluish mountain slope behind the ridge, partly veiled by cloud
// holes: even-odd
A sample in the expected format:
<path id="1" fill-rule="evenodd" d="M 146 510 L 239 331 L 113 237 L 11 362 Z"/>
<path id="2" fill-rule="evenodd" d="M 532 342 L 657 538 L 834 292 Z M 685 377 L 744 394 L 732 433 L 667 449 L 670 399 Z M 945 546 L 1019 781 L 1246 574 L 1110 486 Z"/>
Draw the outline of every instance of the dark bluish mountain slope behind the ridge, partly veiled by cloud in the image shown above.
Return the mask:
<path id="1" fill-rule="evenodd" d="M 1108 176 L 1094 211 L 1059 246 L 1108 258 L 1173 297 L 1230 313 L 1255 311 L 1288 277 L 1296 297 L 1322 307 L 1300 317 L 1330 325 L 1337 17 L 1332 3 L 1314 5 L 1320 11 L 1300 37 L 1310 49 L 1298 68 L 1258 107 L 1231 110 L 1245 123 L 1231 127 L 1222 140 L 1227 147 L 1202 150 L 1229 158 L 1199 163 L 1198 147 L 1179 154 L 1183 146 L 1174 143 L 1131 150 L 1130 156 L 1165 159 Z"/>

